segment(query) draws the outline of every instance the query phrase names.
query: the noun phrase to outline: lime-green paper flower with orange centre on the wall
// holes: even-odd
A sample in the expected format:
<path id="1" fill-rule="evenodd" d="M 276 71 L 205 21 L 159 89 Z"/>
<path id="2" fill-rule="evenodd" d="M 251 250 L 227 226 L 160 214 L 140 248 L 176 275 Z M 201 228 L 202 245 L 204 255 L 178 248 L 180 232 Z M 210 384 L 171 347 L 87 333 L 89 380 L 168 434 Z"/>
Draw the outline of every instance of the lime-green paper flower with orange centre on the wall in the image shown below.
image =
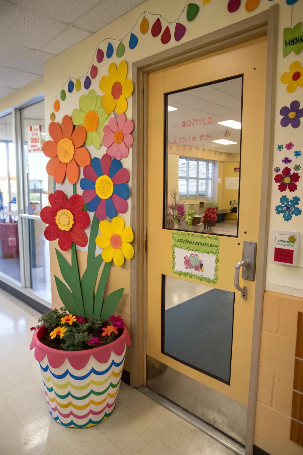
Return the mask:
<path id="1" fill-rule="evenodd" d="M 74 109 L 72 121 L 74 125 L 82 125 L 86 131 L 85 144 L 93 144 L 98 150 L 103 137 L 104 123 L 108 118 L 104 107 L 101 106 L 101 96 L 96 95 L 94 90 L 89 90 L 87 95 L 79 98 L 79 108 Z"/>

